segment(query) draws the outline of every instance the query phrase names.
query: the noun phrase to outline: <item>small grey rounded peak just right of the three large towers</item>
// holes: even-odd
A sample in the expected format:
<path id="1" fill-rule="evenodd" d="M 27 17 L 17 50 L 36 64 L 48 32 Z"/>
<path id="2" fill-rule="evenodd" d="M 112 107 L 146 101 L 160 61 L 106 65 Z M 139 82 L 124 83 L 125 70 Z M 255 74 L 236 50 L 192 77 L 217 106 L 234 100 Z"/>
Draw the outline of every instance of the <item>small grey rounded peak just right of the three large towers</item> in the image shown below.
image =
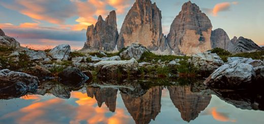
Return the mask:
<path id="1" fill-rule="evenodd" d="M 233 47 L 233 43 L 230 41 L 227 33 L 221 28 L 212 31 L 211 40 L 212 48 L 229 50 L 228 48 Z"/>

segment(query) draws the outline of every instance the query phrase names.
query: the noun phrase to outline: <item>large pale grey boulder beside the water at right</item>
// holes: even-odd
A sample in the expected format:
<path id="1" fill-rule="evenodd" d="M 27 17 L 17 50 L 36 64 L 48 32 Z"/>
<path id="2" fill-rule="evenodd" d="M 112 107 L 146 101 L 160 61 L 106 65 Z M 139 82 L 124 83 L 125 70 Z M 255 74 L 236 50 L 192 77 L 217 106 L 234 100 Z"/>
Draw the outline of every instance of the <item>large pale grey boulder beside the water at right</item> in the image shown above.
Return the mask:
<path id="1" fill-rule="evenodd" d="M 239 89 L 251 85 L 255 77 L 252 65 L 233 61 L 216 69 L 204 83 L 212 88 Z"/>

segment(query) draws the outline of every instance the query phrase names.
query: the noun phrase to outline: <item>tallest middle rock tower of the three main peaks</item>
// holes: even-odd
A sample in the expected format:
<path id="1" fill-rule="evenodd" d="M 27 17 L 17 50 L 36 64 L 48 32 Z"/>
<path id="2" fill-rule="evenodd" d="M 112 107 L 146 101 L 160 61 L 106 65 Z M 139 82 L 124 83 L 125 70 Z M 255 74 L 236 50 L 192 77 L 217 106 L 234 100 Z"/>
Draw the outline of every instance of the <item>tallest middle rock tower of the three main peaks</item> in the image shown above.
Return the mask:
<path id="1" fill-rule="evenodd" d="M 161 11 L 150 0 L 136 0 L 121 27 L 118 49 L 136 43 L 157 50 L 161 38 Z"/>

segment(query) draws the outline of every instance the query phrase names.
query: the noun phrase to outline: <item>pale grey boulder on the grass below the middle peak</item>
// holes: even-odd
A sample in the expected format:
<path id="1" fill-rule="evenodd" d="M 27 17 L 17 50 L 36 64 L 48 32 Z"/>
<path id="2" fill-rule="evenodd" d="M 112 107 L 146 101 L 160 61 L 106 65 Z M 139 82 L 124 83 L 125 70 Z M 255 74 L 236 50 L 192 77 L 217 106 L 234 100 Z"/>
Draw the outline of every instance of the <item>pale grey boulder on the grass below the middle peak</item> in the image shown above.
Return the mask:
<path id="1" fill-rule="evenodd" d="M 135 58 L 139 60 L 144 52 L 149 52 L 147 48 L 139 44 L 132 44 L 127 47 L 122 53 L 120 53 L 120 57 L 123 59 L 131 59 Z"/>

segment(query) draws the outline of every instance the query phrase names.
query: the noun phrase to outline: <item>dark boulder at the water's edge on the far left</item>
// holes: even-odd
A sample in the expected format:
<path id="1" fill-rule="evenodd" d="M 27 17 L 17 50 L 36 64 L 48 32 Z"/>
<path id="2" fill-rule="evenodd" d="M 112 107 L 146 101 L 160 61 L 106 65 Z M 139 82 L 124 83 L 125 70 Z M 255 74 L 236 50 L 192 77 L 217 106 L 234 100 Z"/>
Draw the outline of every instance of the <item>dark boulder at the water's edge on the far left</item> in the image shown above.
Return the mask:
<path id="1" fill-rule="evenodd" d="M 34 93 L 38 89 L 39 78 L 22 72 L 11 71 L 8 69 L 0 70 L 0 78 L 10 80 L 14 83 L 23 83 L 28 92 Z M 13 83 L 13 84 L 14 84 Z M 12 84 L 10 84 L 12 85 Z M 25 89 L 24 85 L 19 85 Z M 23 87 L 22 87 L 23 86 Z"/>

